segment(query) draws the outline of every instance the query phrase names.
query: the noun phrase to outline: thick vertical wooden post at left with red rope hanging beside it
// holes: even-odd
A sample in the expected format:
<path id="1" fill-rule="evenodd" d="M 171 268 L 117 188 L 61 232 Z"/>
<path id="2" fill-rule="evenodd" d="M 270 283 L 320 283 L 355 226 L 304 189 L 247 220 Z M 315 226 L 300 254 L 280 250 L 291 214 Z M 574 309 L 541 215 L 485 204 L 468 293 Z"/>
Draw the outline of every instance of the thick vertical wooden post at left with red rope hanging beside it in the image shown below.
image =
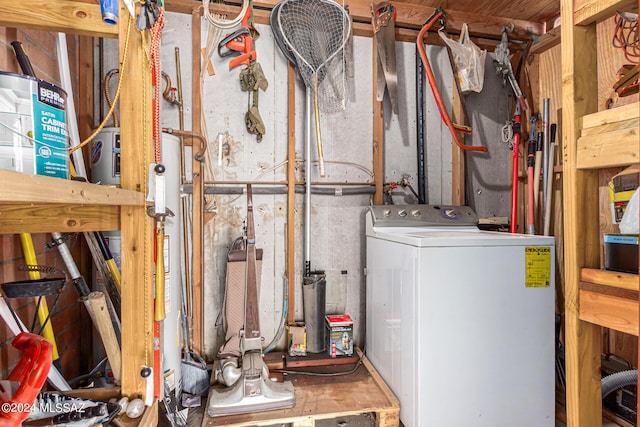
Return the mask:
<path id="1" fill-rule="evenodd" d="M 129 12 L 120 3 L 120 16 Z M 130 27 L 129 27 L 130 24 Z M 126 57 L 126 69 L 120 74 L 122 92 L 120 115 L 127 117 L 120 126 L 121 155 L 126 159 L 122 168 L 122 188 L 141 193 L 147 189 L 147 165 L 151 163 L 153 150 L 144 147 L 151 136 L 151 72 L 144 62 L 145 47 L 141 33 L 134 23 L 121 19 L 120 40 L 130 31 Z M 125 58 L 125 43 L 119 44 L 119 58 Z M 98 187 L 98 186 L 95 186 Z M 99 187 L 98 187 L 99 188 Z M 143 366 L 153 361 L 153 221 L 147 216 L 144 205 L 123 206 L 122 230 L 122 394 L 131 398 L 144 395 L 146 383 L 140 376 Z"/>

